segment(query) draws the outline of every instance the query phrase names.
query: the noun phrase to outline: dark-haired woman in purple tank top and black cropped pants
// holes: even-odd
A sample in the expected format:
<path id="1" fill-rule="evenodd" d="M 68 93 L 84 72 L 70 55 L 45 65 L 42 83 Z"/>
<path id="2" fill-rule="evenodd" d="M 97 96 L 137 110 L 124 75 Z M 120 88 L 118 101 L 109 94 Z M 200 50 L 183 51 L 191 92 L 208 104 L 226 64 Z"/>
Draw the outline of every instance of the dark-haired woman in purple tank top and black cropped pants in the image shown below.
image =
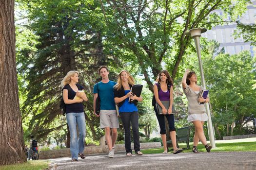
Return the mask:
<path id="1" fill-rule="evenodd" d="M 154 96 L 156 99 L 156 105 L 154 110 L 156 112 L 158 123 L 160 126 L 160 134 L 163 142 L 164 152 L 167 154 L 166 143 L 166 130 L 164 117 L 167 118 L 169 124 L 169 132 L 172 139 L 174 148 L 174 154 L 181 153 L 183 150 L 177 148 L 176 143 L 176 129 L 174 126 L 174 113 L 173 110 L 173 81 L 167 70 L 162 70 L 157 77 L 156 84 L 154 85 Z"/>

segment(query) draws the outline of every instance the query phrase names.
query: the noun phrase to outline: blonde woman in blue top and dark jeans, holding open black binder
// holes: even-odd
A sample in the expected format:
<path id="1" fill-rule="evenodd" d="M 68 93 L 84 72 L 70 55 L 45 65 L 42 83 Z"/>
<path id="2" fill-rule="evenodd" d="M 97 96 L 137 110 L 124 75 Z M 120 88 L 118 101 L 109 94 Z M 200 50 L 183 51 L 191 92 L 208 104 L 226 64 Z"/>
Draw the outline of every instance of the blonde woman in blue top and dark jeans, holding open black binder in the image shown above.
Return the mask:
<path id="1" fill-rule="evenodd" d="M 124 127 L 124 139 L 126 156 L 132 156 L 131 149 L 131 124 L 133 129 L 134 150 L 137 155 L 142 155 L 140 152 L 139 132 L 138 132 L 138 108 L 137 103 L 142 101 L 142 97 L 136 96 L 131 92 L 132 86 L 135 85 L 134 78 L 131 74 L 122 70 L 118 74 L 118 82 L 114 86 L 114 99 L 118 103 L 119 115 Z M 133 103 L 129 102 L 134 101 Z"/>

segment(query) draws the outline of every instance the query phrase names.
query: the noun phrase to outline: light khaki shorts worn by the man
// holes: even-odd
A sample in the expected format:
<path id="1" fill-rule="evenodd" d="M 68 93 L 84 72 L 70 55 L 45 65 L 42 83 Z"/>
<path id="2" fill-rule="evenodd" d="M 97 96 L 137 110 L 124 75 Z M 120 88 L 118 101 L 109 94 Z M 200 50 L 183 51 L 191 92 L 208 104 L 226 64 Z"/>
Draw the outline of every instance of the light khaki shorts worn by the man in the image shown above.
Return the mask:
<path id="1" fill-rule="evenodd" d="M 117 111 L 116 110 L 100 110 L 99 124 L 100 124 L 100 128 L 105 128 L 105 127 L 119 128 Z"/>

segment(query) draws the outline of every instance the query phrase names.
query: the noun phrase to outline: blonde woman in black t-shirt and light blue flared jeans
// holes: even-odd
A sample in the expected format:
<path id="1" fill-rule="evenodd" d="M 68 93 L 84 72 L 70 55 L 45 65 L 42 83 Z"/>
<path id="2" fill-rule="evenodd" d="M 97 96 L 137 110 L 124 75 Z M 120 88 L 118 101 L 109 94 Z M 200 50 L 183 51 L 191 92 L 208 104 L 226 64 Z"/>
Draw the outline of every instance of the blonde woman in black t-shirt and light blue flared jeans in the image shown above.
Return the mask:
<path id="1" fill-rule="evenodd" d="M 70 153 L 71 161 L 78 161 L 78 155 L 84 159 L 84 137 L 85 137 L 85 116 L 83 110 L 83 101 L 88 101 L 83 90 L 84 87 L 78 84 L 79 72 L 69 71 L 61 81 L 63 86 L 63 100 L 66 104 L 66 119 L 70 131 Z M 70 92 L 69 92 L 69 90 Z M 79 97 L 74 100 L 75 96 Z M 77 127 L 79 128 L 79 138 L 77 136 Z"/>

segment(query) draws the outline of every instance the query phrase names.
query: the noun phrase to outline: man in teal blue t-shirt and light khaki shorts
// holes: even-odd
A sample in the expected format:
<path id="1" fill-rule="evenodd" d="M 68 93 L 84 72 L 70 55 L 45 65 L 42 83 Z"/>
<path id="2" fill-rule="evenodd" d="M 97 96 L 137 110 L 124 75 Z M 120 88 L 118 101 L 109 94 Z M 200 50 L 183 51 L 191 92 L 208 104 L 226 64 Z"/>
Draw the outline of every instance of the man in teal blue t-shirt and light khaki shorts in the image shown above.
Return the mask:
<path id="1" fill-rule="evenodd" d="M 114 101 L 113 87 L 117 83 L 109 80 L 109 71 L 106 66 L 101 66 L 98 69 L 98 73 L 102 80 L 93 87 L 93 112 L 94 115 L 99 117 L 100 128 L 105 129 L 105 139 L 109 148 L 108 157 L 114 157 L 114 147 L 118 137 L 119 122 Z M 96 99 L 98 95 L 100 99 L 99 115 L 96 114 Z M 112 136 L 110 136 L 110 130 Z"/>

